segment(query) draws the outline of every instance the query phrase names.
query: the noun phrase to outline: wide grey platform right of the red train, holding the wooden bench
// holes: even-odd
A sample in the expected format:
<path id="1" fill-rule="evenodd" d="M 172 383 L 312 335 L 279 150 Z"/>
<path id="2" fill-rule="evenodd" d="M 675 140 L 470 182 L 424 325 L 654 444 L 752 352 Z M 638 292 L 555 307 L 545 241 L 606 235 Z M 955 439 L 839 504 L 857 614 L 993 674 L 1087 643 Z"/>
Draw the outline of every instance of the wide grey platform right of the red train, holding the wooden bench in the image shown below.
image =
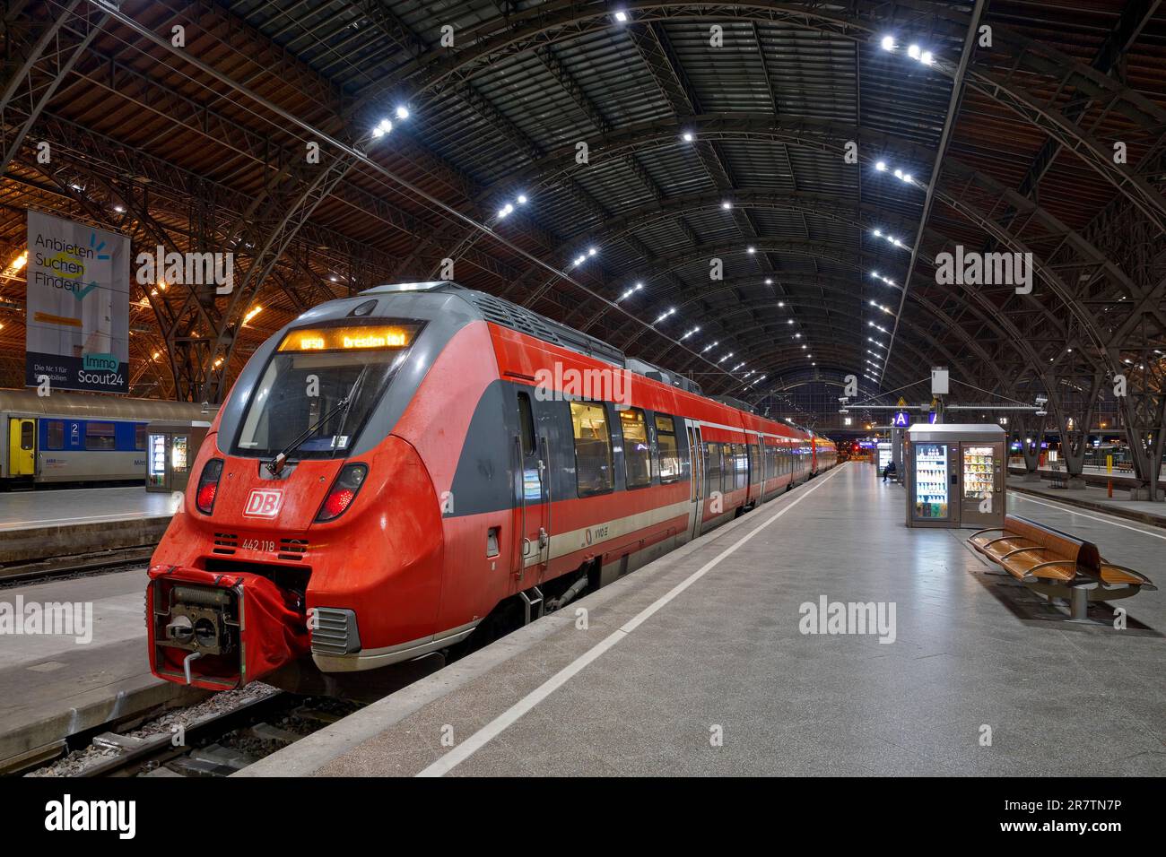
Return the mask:
<path id="1" fill-rule="evenodd" d="M 1009 503 L 1163 576 L 1152 527 Z M 1166 592 L 1068 623 L 905 505 L 844 464 L 237 775 L 1166 773 Z"/>

